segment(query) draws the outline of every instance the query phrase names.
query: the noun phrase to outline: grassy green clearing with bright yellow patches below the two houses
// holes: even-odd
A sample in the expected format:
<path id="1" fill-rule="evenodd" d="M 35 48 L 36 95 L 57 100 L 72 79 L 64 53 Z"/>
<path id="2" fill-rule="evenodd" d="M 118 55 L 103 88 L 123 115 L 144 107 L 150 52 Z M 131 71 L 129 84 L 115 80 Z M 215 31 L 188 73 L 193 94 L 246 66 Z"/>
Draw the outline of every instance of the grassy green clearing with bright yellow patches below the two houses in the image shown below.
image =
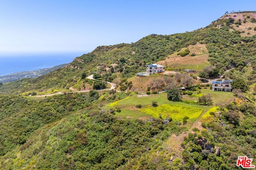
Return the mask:
<path id="1" fill-rule="evenodd" d="M 189 102 L 188 103 L 172 102 L 167 99 L 167 93 L 150 94 L 148 96 L 142 96 L 142 97 L 138 97 L 138 94 L 134 94 L 134 96 L 130 96 L 123 100 L 119 100 L 119 101 L 113 102 L 111 104 L 108 104 L 107 106 L 104 107 L 104 109 L 108 110 L 110 108 L 114 108 L 114 107 L 118 106 L 121 108 L 121 112 L 116 112 L 116 115 L 121 116 L 121 117 L 134 117 L 134 118 L 148 117 L 148 116 L 158 117 L 159 113 L 162 113 L 163 118 L 166 118 L 166 116 L 170 116 L 170 117 L 172 117 L 172 119 L 180 121 L 184 116 L 188 116 L 188 117 L 190 117 L 189 121 L 194 122 L 197 119 L 197 117 L 200 116 L 202 111 L 204 111 L 204 113 L 205 113 L 212 107 L 215 107 L 216 103 L 222 102 L 228 98 L 233 97 L 232 92 L 216 92 L 216 91 L 212 91 L 210 89 L 201 89 L 201 92 L 203 94 L 209 93 L 212 95 L 212 102 L 213 102 L 212 105 L 210 105 L 210 106 L 199 105 L 199 104 L 193 102 L 193 101 L 198 101 L 198 98 L 195 98 L 195 97 L 193 97 L 193 98 L 186 97 L 186 98 L 182 99 L 184 101 L 185 100 L 192 101 L 191 103 L 194 103 L 194 104 L 190 104 Z M 157 110 L 154 110 L 154 107 L 148 107 L 148 106 L 152 105 L 152 101 L 158 102 L 159 106 L 155 107 L 155 109 L 157 109 Z M 138 109 L 135 107 L 136 105 L 139 105 L 139 104 L 142 105 L 142 109 Z M 170 107 L 167 108 L 167 106 L 170 106 Z M 184 107 L 184 106 L 187 106 L 187 107 Z M 166 111 L 164 111 L 163 109 L 161 109 L 162 107 L 166 107 L 167 109 L 165 108 L 164 110 L 166 110 L 168 113 Z M 176 112 L 178 114 L 176 114 L 176 115 L 172 114 L 172 112 L 174 110 L 172 110 L 171 107 L 172 107 L 172 109 L 174 109 L 174 107 L 175 107 Z M 179 110 L 178 107 L 186 108 L 186 109 Z M 148 109 L 146 109 L 146 108 L 148 108 Z M 190 113 L 188 108 L 191 108 L 191 110 L 195 109 L 196 111 L 194 111 L 194 112 L 196 114 L 193 115 L 193 113 Z M 200 111 L 198 111 L 196 108 L 199 108 Z M 157 115 L 155 115 L 154 112 L 157 112 Z M 200 114 L 197 114 L 199 112 L 200 112 Z M 170 115 L 169 115 L 169 113 L 170 113 Z M 188 113 L 188 115 L 187 115 L 187 113 Z M 193 116 L 191 116 L 191 115 L 193 115 Z"/>

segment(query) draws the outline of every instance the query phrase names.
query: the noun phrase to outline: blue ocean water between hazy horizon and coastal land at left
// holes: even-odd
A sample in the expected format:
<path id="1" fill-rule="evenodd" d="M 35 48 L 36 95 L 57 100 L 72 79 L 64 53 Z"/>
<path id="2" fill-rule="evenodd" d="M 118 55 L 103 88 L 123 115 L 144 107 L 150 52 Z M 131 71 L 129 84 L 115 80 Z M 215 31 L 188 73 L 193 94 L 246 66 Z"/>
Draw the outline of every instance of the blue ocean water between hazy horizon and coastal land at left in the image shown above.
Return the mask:
<path id="1" fill-rule="evenodd" d="M 0 54 L 0 76 L 21 71 L 32 71 L 50 68 L 73 61 L 85 53 L 21 53 Z"/>

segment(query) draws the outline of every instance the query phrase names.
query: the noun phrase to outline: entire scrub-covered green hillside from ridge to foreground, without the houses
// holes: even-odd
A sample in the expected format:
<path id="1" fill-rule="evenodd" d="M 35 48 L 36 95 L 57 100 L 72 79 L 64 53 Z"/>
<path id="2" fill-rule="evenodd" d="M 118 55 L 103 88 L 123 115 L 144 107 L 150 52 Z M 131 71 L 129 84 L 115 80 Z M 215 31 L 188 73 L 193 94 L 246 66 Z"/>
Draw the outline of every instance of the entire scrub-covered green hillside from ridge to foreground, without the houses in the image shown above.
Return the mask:
<path id="1" fill-rule="evenodd" d="M 38 78 L 1 83 L 0 169 L 233 170 L 238 156 L 255 165 L 254 16 L 99 46 Z M 166 72 L 135 76 L 150 63 Z M 232 92 L 212 91 L 222 77 Z"/>

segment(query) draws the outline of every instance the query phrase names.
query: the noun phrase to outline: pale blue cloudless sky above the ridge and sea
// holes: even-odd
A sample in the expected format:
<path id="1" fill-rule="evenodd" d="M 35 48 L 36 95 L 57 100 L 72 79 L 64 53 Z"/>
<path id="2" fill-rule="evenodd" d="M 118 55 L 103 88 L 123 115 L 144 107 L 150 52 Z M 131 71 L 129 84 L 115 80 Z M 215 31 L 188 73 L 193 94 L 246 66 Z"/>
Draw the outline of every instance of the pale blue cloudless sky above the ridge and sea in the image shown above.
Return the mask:
<path id="1" fill-rule="evenodd" d="M 1 52 L 90 52 L 205 27 L 256 0 L 0 0 Z"/>

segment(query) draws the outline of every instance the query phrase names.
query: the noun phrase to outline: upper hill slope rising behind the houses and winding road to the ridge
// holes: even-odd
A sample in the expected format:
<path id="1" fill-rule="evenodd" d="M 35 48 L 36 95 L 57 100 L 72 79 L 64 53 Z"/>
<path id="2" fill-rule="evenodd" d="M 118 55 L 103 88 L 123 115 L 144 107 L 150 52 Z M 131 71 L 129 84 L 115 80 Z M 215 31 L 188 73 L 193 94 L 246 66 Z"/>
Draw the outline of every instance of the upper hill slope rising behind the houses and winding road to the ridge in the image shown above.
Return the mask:
<path id="1" fill-rule="evenodd" d="M 237 23 L 243 15 L 244 20 Z M 201 71 L 210 64 L 216 66 L 216 71 L 220 74 L 234 67 L 241 70 L 249 66 L 248 64 L 254 68 L 254 33 L 256 31 L 252 27 L 253 15 L 253 13 L 246 13 L 234 17 L 234 14 L 226 14 L 209 26 L 192 32 L 173 35 L 152 34 L 131 44 L 99 46 L 91 53 L 77 57 L 66 68 L 58 69 L 34 80 L 21 80 L 14 84 L 6 84 L 0 87 L 0 92 L 20 94 L 31 90 L 63 90 L 76 84 L 80 86 L 79 84 L 86 83 L 81 79 L 82 72 L 89 75 L 98 71 L 108 80 L 129 78 L 137 72 L 145 71 L 146 64 L 157 62 L 170 69 L 184 68 Z M 221 27 L 217 27 L 218 25 Z M 244 35 L 244 30 L 239 30 L 249 27 L 252 28 L 248 30 L 250 34 Z M 190 50 L 188 55 L 184 57 L 178 55 L 185 49 Z M 100 63 L 105 63 L 106 67 L 99 70 L 97 67 Z M 111 64 L 116 66 L 111 68 Z M 254 75 L 252 72 L 247 77 L 254 79 Z M 233 78 L 230 75 L 228 77 Z"/>

